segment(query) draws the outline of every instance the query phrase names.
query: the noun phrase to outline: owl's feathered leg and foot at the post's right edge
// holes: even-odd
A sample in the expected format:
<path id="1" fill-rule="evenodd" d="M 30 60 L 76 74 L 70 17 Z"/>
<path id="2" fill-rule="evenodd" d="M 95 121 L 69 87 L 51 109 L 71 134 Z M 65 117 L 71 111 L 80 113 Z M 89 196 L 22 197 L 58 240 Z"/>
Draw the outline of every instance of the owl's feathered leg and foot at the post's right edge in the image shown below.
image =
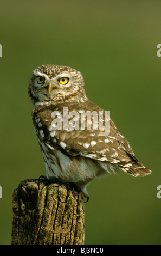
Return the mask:
<path id="1" fill-rule="evenodd" d="M 86 190 L 86 187 L 92 180 L 93 178 L 86 179 L 86 180 L 79 180 L 77 182 L 69 182 L 69 184 L 72 185 L 75 188 L 75 190 L 79 192 L 81 191 L 83 193 L 83 196 L 87 198 L 87 201 L 85 203 L 87 203 L 89 200 L 89 194 Z"/>

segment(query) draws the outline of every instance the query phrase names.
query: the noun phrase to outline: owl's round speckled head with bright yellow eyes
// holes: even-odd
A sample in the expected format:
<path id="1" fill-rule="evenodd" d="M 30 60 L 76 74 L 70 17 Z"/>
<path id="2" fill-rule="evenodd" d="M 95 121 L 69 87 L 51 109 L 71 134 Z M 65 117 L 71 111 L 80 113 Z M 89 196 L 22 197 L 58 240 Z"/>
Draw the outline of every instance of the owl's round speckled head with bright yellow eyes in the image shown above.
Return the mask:
<path id="1" fill-rule="evenodd" d="M 33 71 L 28 89 L 31 102 L 85 102 L 81 73 L 68 66 L 43 65 Z"/>

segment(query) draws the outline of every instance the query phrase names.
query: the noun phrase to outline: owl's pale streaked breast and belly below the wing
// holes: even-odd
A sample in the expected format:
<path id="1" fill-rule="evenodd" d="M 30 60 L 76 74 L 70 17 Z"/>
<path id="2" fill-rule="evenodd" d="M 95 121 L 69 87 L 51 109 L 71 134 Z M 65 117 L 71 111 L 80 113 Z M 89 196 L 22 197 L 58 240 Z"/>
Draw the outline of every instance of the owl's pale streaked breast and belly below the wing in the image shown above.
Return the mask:
<path id="1" fill-rule="evenodd" d="M 62 182 L 93 179 L 99 172 L 98 164 L 93 159 L 82 156 L 70 156 L 60 149 L 51 148 L 38 138 L 42 151 L 47 177 L 55 176 Z"/>

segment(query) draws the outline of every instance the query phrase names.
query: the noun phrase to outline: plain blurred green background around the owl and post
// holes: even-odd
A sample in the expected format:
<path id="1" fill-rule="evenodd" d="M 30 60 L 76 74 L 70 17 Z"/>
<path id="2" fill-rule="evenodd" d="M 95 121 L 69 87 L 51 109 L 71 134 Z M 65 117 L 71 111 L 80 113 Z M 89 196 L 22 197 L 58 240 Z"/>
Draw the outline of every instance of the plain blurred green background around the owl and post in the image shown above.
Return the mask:
<path id="1" fill-rule="evenodd" d="M 87 96 L 110 111 L 152 174 L 95 179 L 85 204 L 86 245 L 161 245 L 160 1 L 1 0 L 0 244 L 10 245 L 12 192 L 46 170 L 27 93 L 33 69 L 71 66 Z"/>

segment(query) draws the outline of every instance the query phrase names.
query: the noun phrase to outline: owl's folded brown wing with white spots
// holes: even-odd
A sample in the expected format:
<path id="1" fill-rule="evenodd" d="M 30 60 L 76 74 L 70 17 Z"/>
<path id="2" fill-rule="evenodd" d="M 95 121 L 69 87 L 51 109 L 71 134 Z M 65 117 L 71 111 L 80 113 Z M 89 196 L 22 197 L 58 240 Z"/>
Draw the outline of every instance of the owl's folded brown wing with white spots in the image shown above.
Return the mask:
<path id="1" fill-rule="evenodd" d="M 51 150 L 59 148 L 71 156 L 80 155 L 98 161 L 108 161 L 117 164 L 122 170 L 134 176 L 149 174 L 149 169 L 134 157 L 130 144 L 111 119 L 110 133 L 106 136 L 100 136 L 101 130 L 99 127 L 98 130 L 94 130 L 92 128 L 94 126 L 91 126 L 90 130 L 53 130 L 55 124 L 52 124 L 53 120 L 50 109 L 38 113 L 35 118 L 37 131 Z M 91 123 L 93 124 L 93 120 Z M 86 127 L 88 125 L 86 123 Z"/>

